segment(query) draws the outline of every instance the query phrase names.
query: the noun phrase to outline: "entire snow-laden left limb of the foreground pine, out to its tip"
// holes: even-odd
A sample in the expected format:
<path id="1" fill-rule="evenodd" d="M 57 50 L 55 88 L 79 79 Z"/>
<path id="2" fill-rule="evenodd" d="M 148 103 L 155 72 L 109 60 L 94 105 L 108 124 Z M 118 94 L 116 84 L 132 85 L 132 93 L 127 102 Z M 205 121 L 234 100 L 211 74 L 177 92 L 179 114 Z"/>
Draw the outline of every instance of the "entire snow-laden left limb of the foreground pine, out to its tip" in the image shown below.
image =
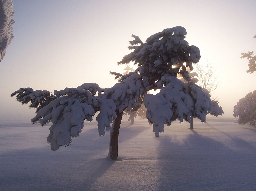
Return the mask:
<path id="1" fill-rule="evenodd" d="M 54 95 L 45 90 L 20 88 L 11 96 L 17 95 L 16 99 L 22 104 L 31 101 L 30 107 L 37 108 L 37 115 L 31 120 L 33 123 L 39 122 L 42 126 L 53 123 L 47 142 L 51 143 L 52 150 L 57 150 L 62 145 L 69 145 L 72 138 L 79 136 L 84 120 L 92 121 L 97 111 L 104 118 L 97 120 L 100 136 L 105 134 L 105 127 L 109 129 L 110 123 L 116 118 L 116 105 L 109 99 L 97 100 L 94 96 L 97 91 L 101 95 L 102 89 L 97 84 L 84 83 L 78 88 L 55 90 Z"/>

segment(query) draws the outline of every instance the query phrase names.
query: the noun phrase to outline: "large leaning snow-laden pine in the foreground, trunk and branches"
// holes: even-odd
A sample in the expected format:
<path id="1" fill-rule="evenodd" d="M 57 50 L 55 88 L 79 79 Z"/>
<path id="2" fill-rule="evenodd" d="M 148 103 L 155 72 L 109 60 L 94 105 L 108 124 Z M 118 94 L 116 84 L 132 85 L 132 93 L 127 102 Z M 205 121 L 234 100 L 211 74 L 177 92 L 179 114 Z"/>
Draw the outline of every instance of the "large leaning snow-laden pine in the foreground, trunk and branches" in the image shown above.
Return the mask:
<path id="1" fill-rule="evenodd" d="M 173 27 L 150 36 L 145 43 L 132 35 L 134 40 L 129 47 L 132 52 L 118 64 L 134 62 L 138 67 L 126 75 L 111 72 L 119 81 L 111 88 L 101 89 L 97 84 L 84 83 L 77 88 L 55 90 L 54 94 L 21 88 L 11 96 L 16 95 L 23 104 L 31 102 L 30 107 L 37 109 L 33 123 L 53 123 L 47 138 L 52 150 L 69 145 L 81 132 L 84 120 L 92 121 L 95 113 L 100 112 L 96 117 L 99 135 L 104 136 L 105 130 L 110 130 L 109 157 L 117 160 L 123 112 L 136 108 L 142 98 L 156 137 L 164 131 L 165 124 L 170 125 L 176 119 L 191 122 L 197 117 L 204 122 L 205 113 L 216 116 L 223 113 L 218 104 L 215 108 L 219 110 L 214 109 L 209 96 L 190 80 L 186 69 L 193 69 L 192 63 L 199 61 L 200 53 L 197 47 L 189 46 L 184 40 L 186 34 L 183 27 Z M 177 74 L 188 83 L 179 80 Z M 146 94 L 152 89 L 161 90 L 156 95 Z"/>

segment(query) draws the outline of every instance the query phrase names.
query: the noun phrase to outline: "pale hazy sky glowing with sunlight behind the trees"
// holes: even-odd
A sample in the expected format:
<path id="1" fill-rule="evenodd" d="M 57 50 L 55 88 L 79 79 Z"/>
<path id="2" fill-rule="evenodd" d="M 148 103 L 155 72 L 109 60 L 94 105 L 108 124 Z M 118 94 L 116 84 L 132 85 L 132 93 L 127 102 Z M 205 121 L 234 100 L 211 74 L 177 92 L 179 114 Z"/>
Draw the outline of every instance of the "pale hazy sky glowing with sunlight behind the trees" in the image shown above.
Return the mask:
<path id="1" fill-rule="evenodd" d="M 186 41 L 200 49 L 200 62 L 216 67 L 221 86 L 214 92 L 232 117 L 233 107 L 256 90 L 256 74 L 248 74 L 241 53 L 256 51 L 256 1 L 115 1 L 13 0 L 11 45 L 0 62 L 0 123 L 27 121 L 33 109 L 10 98 L 20 87 L 61 90 L 85 82 L 102 88 L 117 81 L 109 71 L 130 51 L 137 35 L 145 42 L 163 29 L 182 26 Z M 95 119 L 94 119 L 95 120 Z"/>

